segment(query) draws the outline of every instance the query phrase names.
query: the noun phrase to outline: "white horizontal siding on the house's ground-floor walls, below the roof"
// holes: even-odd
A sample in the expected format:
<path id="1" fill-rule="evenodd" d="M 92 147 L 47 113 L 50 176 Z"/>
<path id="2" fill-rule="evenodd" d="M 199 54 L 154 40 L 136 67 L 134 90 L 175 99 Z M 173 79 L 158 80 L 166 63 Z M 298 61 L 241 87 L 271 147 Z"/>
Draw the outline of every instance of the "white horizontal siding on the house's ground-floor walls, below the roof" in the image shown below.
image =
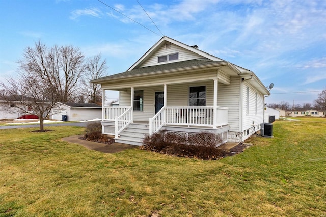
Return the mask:
<path id="1" fill-rule="evenodd" d="M 233 132 L 239 132 L 240 82 L 241 78 L 234 76 L 230 78 L 230 85 L 218 83 L 218 106 L 229 108 L 228 122 L 230 131 Z M 167 106 L 188 106 L 189 87 L 191 86 L 206 86 L 206 106 L 213 106 L 214 86 L 212 80 L 197 83 L 168 84 Z M 163 91 L 163 89 L 163 85 L 135 89 L 144 90 L 144 111 L 134 111 L 135 121 L 148 121 L 149 117 L 154 115 L 155 91 Z M 262 123 L 263 120 L 263 96 L 257 93 L 257 115 L 255 115 L 255 93 L 256 91 L 253 89 L 252 93 L 249 94 L 251 100 L 249 115 L 244 117 L 245 120 L 243 122 L 247 128 L 251 127 L 252 121 L 258 124 L 258 122 Z M 246 93 L 244 93 L 244 96 L 246 96 Z M 243 103 L 246 103 L 245 100 L 243 100 Z M 130 89 L 120 91 L 120 106 L 130 106 Z"/>

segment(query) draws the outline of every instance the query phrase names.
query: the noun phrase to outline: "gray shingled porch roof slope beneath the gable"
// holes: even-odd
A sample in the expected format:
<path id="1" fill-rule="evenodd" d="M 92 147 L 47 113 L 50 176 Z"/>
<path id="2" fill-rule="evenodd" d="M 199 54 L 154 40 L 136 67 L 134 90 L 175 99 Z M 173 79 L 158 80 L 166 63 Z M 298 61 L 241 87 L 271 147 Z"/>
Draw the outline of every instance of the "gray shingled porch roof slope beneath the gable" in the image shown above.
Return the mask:
<path id="1" fill-rule="evenodd" d="M 205 65 L 211 65 L 216 63 L 222 63 L 224 61 L 211 61 L 211 60 L 187 60 L 187 61 L 180 61 L 175 63 L 167 63 L 167 64 L 161 64 L 161 65 L 155 65 L 155 66 L 147 66 L 143 68 L 137 68 L 132 69 L 130 71 L 122 72 L 119 74 L 114 74 L 106 77 L 101 77 L 95 80 L 91 80 L 91 82 L 101 82 L 107 79 L 112 78 L 122 78 L 127 76 L 135 76 L 135 75 L 141 75 L 141 74 L 148 74 L 153 72 L 163 72 L 163 71 L 169 71 L 169 70 L 176 70 L 176 69 L 182 69 L 182 68 L 189 68 L 189 67 L 195 67 L 195 66 L 205 66 Z"/>

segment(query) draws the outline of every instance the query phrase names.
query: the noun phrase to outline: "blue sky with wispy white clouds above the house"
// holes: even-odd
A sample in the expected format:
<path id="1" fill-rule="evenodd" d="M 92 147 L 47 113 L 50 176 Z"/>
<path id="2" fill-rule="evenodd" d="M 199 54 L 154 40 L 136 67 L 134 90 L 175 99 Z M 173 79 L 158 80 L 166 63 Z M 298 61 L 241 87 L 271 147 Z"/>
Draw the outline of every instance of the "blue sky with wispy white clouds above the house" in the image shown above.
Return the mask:
<path id="1" fill-rule="evenodd" d="M 108 75 L 127 70 L 162 36 L 141 3 L 164 35 L 273 82 L 267 103 L 312 103 L 326 89 L 324 0 L 102 2 L 156 34 L 98 0 L 0 0 L 0 79 L 15 74 L 23 50 L 39 39 L 86 57 L 100 52 Z"/>

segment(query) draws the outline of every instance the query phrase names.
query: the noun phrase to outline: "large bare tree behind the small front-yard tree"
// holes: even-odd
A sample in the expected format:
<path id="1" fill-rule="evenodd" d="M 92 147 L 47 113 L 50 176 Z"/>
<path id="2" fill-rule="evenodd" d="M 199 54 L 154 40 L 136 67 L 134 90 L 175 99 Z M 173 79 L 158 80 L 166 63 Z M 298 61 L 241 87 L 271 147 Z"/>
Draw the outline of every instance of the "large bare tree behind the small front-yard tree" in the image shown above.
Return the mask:
<path id="1" fill-rule="evenodd" d="M 85 71 L 84 55 L 73 46 L 47 48 L 39 40 L 35 47 L 27 47 L 18 61 L 20 70 L 42 79 L 60 102 L 73 102 L 78 82 Z"/>

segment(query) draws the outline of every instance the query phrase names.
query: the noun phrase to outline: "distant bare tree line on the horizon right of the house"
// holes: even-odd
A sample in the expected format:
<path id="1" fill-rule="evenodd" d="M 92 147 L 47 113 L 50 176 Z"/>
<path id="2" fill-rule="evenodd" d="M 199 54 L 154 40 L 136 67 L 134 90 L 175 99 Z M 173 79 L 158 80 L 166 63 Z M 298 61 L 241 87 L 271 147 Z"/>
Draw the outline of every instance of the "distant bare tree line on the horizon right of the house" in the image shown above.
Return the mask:
<path id="1" fill-rule="evenodd" d="M 309 109 L 309 108 L 326 110 L 326 90 L 323 90 L 321 93 L 318 94 L 318 97 L 317 97 L 317 99 L 314 100 L 313 104 L 302 103 L 302 104 L 296 104 L 296 105 L 291 106 L 289 102 L 281 101 L 280 103 L 268 103 L 267 107 L 281 108 L 282 110 Z"/>

